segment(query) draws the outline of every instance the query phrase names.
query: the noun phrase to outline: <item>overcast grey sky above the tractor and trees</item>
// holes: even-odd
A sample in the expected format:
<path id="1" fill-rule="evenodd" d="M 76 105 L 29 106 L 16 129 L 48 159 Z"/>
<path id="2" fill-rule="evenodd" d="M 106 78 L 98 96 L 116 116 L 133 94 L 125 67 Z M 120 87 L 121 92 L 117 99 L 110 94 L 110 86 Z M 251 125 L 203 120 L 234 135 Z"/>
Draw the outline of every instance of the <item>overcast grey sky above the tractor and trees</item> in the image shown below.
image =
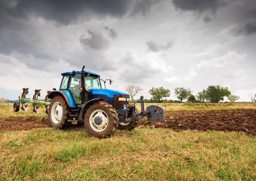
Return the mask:
<path id="1" fill-rule="evenodd" d="M 221 85 L 250 101 L 255 57 L 255 0 L 0 0 L 0 97 L 23 87 L 43 97 L 85 65 L 145 98 L 151 87 Z"/>

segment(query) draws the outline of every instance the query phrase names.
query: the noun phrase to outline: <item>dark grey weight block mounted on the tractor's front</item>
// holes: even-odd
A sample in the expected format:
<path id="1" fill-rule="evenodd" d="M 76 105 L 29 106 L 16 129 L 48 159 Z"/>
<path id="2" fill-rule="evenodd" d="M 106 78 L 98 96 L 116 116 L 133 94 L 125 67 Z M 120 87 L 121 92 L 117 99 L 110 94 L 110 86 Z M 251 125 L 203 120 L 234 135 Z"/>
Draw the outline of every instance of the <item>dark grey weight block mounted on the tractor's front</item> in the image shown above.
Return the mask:
<path id="1" fill-rule="evenodd" d="M 166 109 L 162 106 L 148 106 L 146 111 L 150 112 L 148 117 L 148 123 L 158 123 L 166 120 Z"/>

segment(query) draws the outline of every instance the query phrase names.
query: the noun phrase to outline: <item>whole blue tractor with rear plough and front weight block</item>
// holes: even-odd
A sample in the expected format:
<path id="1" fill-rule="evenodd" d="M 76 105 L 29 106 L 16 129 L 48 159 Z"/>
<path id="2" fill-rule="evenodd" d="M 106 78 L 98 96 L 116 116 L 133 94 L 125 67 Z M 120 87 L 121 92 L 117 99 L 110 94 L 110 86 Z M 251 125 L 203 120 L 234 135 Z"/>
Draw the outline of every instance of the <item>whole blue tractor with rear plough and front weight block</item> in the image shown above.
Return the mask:
<path id="1" fill-rule="evenodd" d="M 148 122 L 163 122 L 166 119 L 166 109 L 161 106 L 151 105 L 144 110 L 143 96 L 139 99 L 139 112 L 135 103 L 129 103 L 130 96 L 127 93 L 102 89 L 100 76 L 84 71 L 84 66 L 81 71 L 64 72 L 61 75 L 63 77 L 60 89 L 53 89 L 54 91 L 49 93 L 50 102 L 41 103 L 48 107 L 48 118 L 53 127 L 67 129 L 72 122 L 76 122 L 83 124 L 90 135 L 105 138 L 112 135 L 116 129 L 134 129 L 143 117 L 147 117 Z M 112 81 L 109 81 L 111 84 Z M 105 84 L 106 80 L 103 82 Z M 26 93 L 23 94 L 20 99 L 22 104 L 34 103 L 34 99 L 24 99 Z M 14 104 L 14 110 L 18 111 L 20 102 Z M 35 103 L 40 104 L 40 101 Z M 22 109 L 26 109 L 26 105 L 23 105 Z M 38 111 L 37 104 L 34 109 L 35 112 Z"/>

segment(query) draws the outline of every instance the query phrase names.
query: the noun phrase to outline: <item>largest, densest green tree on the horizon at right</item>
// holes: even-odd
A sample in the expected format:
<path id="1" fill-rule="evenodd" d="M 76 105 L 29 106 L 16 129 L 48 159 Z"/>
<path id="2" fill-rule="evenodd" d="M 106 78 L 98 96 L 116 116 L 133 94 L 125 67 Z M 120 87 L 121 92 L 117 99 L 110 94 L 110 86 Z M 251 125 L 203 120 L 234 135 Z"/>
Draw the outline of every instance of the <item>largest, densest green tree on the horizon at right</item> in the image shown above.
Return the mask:
<path id="1" fill-rule="evenodd" d="M 228 87 L 223 86 L 209 86 L 205 92 L 206 100 L 211 103 L 218 103 L 218 101 L 224 101 L 224 97 L 231 95 Z"/>

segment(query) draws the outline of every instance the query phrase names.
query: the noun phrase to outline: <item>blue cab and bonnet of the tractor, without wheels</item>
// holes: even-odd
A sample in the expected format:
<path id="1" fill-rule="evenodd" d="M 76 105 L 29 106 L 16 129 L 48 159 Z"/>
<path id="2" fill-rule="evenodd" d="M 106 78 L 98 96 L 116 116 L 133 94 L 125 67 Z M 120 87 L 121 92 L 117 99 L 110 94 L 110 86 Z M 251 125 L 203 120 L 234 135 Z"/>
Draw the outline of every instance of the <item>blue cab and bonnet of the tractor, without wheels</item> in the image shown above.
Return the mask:
<path id="1" fill-rule="evenodd" d="M 102 89 L 101 79 L 98 74 L 84 71 L 84 81 L 82 71 L 64 72 L 61 75 L 63 77 L 59 90 L 68 92 L 71 95 L 69 100 L 73 102 L 72 104 L 75 107 L 80 107 L 97 98 L 111 104 L 115 109 L 124 109 L 125 104 L 129 103 L 130 96 L 127 93 L 112 89 Z M 104 84 L 105 82 L 106 80 Z"/>

